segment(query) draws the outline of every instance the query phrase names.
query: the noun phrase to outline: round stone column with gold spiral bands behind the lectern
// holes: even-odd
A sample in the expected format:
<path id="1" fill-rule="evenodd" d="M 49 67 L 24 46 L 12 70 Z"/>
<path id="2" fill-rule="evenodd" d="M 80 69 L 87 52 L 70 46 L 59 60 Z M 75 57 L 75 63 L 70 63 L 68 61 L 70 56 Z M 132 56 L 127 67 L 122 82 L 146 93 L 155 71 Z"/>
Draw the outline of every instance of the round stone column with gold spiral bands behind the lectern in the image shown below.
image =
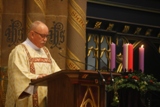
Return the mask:
<path id="1" fill-rule="evenodd" d="M 69 0 L 67 55 L 85 62 L 86 43 L 86 0 Z M 85 65 L 67 60 L 69 69 L 85 69 Z"/>

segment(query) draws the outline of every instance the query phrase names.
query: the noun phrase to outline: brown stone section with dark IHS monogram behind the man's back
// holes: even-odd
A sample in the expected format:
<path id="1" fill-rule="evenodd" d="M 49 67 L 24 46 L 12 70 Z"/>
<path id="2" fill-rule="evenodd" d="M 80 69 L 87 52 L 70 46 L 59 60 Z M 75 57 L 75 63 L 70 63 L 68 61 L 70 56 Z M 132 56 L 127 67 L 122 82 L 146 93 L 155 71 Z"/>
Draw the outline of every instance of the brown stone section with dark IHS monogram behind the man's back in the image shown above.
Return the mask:
<path id="1" fill-rule="evenodd" d="M 2 66 L 8 64 L 10 51 L 25 39 L 25 0 L 3 0 L 1 61 Z"/>

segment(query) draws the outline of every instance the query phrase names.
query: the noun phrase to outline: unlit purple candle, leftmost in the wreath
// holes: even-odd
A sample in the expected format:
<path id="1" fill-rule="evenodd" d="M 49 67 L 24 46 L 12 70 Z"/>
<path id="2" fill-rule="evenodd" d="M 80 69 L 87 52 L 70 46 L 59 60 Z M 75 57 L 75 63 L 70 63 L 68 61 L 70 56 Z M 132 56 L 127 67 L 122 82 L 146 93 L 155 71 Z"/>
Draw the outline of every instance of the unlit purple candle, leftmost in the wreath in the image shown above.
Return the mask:
<path id="1" fill-rule="evenodd" d="M 111 71 L 114 71 L 116 68 L 116 45 L 111 43 Z"/>

